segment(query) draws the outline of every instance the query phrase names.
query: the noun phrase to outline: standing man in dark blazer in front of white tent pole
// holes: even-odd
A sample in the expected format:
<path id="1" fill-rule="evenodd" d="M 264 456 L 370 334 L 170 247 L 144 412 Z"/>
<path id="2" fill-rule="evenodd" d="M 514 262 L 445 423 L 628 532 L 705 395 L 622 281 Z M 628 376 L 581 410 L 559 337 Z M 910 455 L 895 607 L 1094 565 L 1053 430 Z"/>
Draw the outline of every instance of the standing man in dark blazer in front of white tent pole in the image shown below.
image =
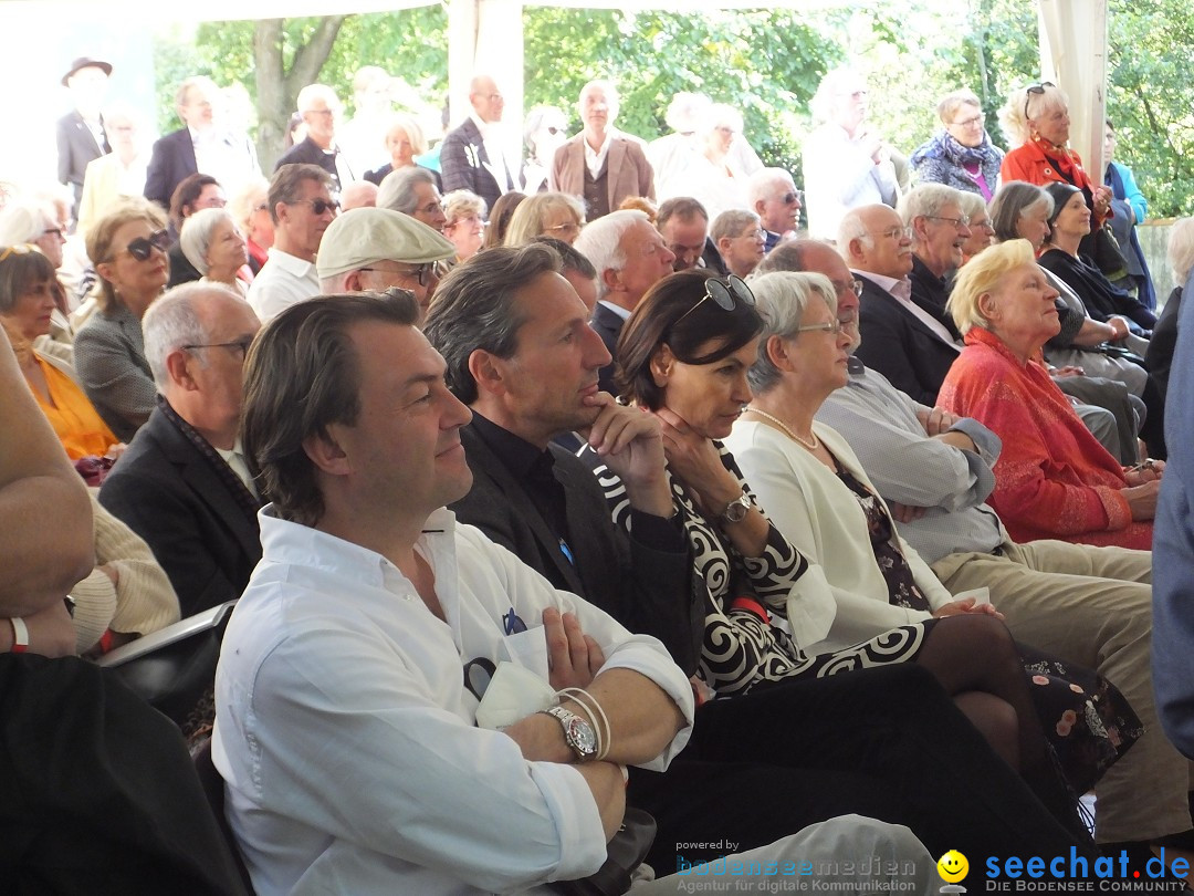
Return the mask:
<path id="1" fill-rule="evenodd" d="M 501 111 L 505 100 L 494 80 L 478 75 L 468 86 L 473 105 L 464 123 L 444 136 L 439 152 L 443 191 L 472 190 L 487 208 L 504 192 L 515 189 L 513 171 L 501 148 Z"/>

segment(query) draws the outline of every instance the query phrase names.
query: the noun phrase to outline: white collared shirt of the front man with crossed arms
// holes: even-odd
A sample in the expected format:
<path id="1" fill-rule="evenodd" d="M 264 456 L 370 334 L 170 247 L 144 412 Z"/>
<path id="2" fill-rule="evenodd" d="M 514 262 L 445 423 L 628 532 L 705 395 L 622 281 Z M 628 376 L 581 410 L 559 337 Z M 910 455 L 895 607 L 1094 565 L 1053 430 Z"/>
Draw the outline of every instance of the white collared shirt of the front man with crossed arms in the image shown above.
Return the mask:
<path id="1" fill-rule="evenodd" d="M 555 606 L 579 616 L 605 669 L 647 676 L 691 723 L 691 688 L 664 646 L 447 509 L 416 544 L 447 622 L 381 554 L 272 505 L 258 518 L 263 558 L 224 636 L 213 735 L 254 891 L 480 896 L 596 871 L 605 837 L 585 780 L 476 728 L 463 673 L 474 682 L 510 661 L 547 679 L 540 620 Z"/>

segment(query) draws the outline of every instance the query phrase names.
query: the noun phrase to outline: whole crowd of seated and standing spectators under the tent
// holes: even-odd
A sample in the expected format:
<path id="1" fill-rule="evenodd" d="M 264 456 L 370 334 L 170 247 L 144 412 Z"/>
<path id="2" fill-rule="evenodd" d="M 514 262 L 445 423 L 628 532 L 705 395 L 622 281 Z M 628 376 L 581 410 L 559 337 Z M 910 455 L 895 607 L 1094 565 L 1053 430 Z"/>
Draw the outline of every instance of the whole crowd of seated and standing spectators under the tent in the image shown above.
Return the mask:
<path id="1" fill-rule="evenodd" d="M 62 203 L 0 209 L 6 409 L 93 521 L 93 556 L 14 570 L 0 652 L 98 658 L 244 594 L 211 751 L 257 892 L 585 878 L 628 808 L 644 892 L 841 830 L 916 863 L 1194 843 L 1149 648 L 1183 290 L 1120 276 L 1127 200 L 1061 90 L 1010 93 L 1007 153 L 955 91 L 905 159 L 831 72 L 808 231 L 700 94 L 646 145 L 592 80 L 523 160 L 488 75 L 438 153 L 394 98 L 350 153 L 312 85 L 265 180 L 214 87 L 180 85 L 148 198 L 84 185 L 86 269 Z"/>

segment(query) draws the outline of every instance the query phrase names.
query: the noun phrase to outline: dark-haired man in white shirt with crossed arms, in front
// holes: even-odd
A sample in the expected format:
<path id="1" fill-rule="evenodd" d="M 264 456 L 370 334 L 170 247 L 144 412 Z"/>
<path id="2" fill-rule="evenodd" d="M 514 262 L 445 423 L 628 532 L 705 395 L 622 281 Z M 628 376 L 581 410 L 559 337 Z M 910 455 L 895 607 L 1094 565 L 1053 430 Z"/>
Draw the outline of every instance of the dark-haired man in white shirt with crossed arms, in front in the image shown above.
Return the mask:
<path id="1" fill-rule="evenodd" d="M 623 816 L 620 765 L 663 768 L 688 739 L 693 693 L 659 642 L 444 508 L 472 484 L 470 413 L 417 318 L 408 295 L 319 297 L 265 330 L 247 372 L 245 444 L 275 503 L 224 637 L 213 760 L 263 896 L 585 877 Z M 519 694 L 585 692 L 491 730 L 499 663 Z M 843 823 L 860 855 L 878 841 L 928 882 L 906 830 Z"/>

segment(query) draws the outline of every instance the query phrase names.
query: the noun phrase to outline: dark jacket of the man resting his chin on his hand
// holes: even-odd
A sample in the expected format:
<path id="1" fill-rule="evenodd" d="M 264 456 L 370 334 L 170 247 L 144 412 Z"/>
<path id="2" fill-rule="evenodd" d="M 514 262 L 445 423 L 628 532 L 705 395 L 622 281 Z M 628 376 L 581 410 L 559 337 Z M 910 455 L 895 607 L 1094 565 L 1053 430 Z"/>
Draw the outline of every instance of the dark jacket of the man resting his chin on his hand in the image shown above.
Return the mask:
<path id="1" fill-rule="evenodd" d="M 615 526 L 597 477 L 573 454 L 552 446 L 564 486 L 574 563 L 510 468 L 472 424 L 460 431 L 473 487 L 451 504 L 555 588 L 580 595 L 638 634 L 658 638 L 685 675 L 696 671 L 704 637 L 704 581 L 695 584 L 691 548 L 671 553 L 639 544 Z"/>

